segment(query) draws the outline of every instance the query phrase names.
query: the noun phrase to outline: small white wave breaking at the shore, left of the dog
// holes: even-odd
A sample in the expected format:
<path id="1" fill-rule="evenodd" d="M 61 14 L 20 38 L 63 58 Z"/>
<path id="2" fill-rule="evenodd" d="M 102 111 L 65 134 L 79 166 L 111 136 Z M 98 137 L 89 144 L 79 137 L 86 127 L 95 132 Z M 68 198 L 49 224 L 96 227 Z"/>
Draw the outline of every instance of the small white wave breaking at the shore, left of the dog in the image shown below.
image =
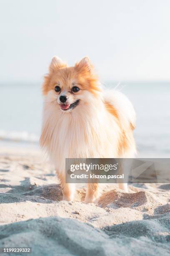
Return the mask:
<path id="1" fill-rule="evenodd" d="M 18 141 L 18 142 L 30 142 L 37 143 L 39 141 L 39 136 L 35 133 L 28 133 L 27 131 L 16 132 L 16 131 L 3 131 L 0 130 L 0 140 L 3 141 Z"/>

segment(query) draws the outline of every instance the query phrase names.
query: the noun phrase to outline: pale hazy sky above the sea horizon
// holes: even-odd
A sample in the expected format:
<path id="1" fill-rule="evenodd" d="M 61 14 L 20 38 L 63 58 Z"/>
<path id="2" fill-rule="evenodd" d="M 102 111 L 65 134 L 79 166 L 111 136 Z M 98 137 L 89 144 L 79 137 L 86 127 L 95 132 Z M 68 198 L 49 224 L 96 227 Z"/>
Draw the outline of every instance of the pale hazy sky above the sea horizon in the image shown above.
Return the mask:
<path id="1" fill-rule="evenodd" d="M 0 0 L 0 81 L 39 81 L 52 56 L 103 80 L 170 80 L 170 0 Z"/>

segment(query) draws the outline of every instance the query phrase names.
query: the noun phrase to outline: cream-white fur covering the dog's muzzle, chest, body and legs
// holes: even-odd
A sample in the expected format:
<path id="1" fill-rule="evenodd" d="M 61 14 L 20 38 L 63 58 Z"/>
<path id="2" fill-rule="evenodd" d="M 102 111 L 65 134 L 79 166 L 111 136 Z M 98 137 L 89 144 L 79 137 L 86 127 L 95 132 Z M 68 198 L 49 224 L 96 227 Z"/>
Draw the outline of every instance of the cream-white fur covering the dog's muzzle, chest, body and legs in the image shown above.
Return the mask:
<path id="1" fill-rule="evenodd" d="M 67 92 L 65 89 L 65 94 Z M 65 158 L 128 158 L 133 157 L 136 151 L 130 129 L 130 125 L 135 126 L 135 111 L 125 95 L 115 90 L 101 89 L 95 94 L 82 90 L 74 97 L 80 99 L 80 104 L 67 111 L 61 110 L 54 90 L 49 90 L 44 97 L 40 144 L 47 150 L 55 166 L 63 191 Z M 107 103 L 117 111 L 118 121 L 107 111 Z M 120 154 L 122 130 L 127 135 L 128 146 L 125 150 L 122 148 Z M 66 187 L 63 199 L 73 200 L 74 184 L 66 184 Z M 124 184 L 120 184 L 120 188 L 127 189 Z M 98 195 L 98 186 L 89 185 L 85 201 L 93 202 Z"/>

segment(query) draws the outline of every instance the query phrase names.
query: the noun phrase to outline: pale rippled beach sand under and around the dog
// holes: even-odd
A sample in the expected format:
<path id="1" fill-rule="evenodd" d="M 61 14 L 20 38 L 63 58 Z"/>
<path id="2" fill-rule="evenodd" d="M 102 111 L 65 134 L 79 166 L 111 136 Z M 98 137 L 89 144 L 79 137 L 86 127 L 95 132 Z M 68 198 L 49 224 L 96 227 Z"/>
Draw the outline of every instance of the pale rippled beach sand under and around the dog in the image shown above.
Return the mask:
<path id="1" fill-rule="evenodd" d="M 97 205 L 83 203 L 81 186 L 74 202 L 62 201 L 39 151 L 1 149 L 0 247 L 32 247 L 33 256 L 170 255 L 170 184 L 134 184 L 129 193 L 107 184 Z"/>

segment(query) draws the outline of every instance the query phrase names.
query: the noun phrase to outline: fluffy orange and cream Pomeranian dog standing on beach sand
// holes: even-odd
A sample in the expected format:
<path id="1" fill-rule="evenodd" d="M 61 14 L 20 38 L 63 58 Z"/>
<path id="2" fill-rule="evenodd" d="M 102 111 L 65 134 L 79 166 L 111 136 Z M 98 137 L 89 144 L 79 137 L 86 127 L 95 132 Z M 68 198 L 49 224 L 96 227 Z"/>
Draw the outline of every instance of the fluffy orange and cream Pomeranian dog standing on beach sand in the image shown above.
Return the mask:
<path id="1" fill-rule="evenodd" d="M 72 201 L 75 187 L 65 183 L 65 158 L 132 158 L 135 111 L 125 95 L 102 88 L 88 57 L 67 67 L 54 56 L 42 92 L 40 146 L 55 166 L 63 200 Z M 127 184 L 119 187 L 127 191 Z M 87 184 L 85 202 L 98 197 L 98 184 Z"/>

